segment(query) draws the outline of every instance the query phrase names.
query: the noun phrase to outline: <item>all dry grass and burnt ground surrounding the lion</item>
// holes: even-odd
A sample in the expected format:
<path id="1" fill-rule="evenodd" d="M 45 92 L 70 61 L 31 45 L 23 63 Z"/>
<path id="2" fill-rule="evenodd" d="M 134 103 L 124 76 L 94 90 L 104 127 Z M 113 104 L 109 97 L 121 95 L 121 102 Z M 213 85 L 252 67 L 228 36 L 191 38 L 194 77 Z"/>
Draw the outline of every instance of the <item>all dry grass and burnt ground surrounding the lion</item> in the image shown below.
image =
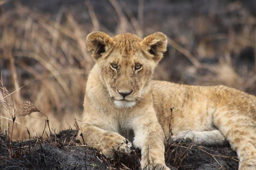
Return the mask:
<path id="1" fill-rule="evenodd" d="M 91 31 L 132 32 L 141 37 L 163 31 L 169 46 L 156 79 L 223 84 L 256 94 L 256 18 L 242 1 L 209 1 L 208 5 L 159 1 L 156 5 L 143 0 L 86 0 L 63 1 L 61 6 L 54 2 L 54 10 L 47 11 L 31 1 L 0 0 L 1 169 L 51 167 L 52 160 L 56 169 L 140 167 L 138 151 L 131 156 L 116 153 L 116 159 L 108 160 L 75 146 L 76 131 L 58 134 L 79 127 L 84 85 L 93 66 L 85 45 Z M 51 150 L 63 157 L 58 159 Z M 170 143 L 166 150 L 170 167 L 237 167 L 236 153 L 228 147 L 180 142 Z M 76 164 L 65 163 L 70 153 Z"/>

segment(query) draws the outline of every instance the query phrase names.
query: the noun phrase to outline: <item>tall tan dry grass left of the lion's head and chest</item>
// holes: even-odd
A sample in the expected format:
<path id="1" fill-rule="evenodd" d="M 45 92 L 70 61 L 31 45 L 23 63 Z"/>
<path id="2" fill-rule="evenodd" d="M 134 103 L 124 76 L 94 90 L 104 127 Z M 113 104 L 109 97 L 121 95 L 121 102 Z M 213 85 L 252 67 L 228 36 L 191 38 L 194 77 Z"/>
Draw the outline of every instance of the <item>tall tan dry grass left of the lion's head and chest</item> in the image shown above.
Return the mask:
<path id="1" fill-rule="evenodd" d="M 116 0 L 109 1 L 120 17 L 118 32 L 134 29 Z M 92 25 L 79 24 L 63 8 L 56 18 L 15 4 L 12 10 L 1 13 L 1 60 L 8 64 L 3 71 L 3 88 L 15 91 L 12 106 L 19 110 L 22 101 L 29 99 L 49 117 L 51 129 L 59 131 L 74 127 L 75 119 L 81 120 L 86 77 L 94 62 L 86 51 L 86 35 L 103 29 L 90 1 L 85 1 Z M 141 29 L 136 27 L 141 33 Z M 110 33 L 110 32 L 109 32 Z M 112 32 L 113 33 L 113 32 Z M 3 92 L 3 91 L 2 91 Z M 3 99 L 3 98 L 2 98 Z M 3 104 L 1 105 L 3 107 Z M 2 125 L 9 125 L 13 113 L 1 110 L 8 118 Z M 45 117 L 39 112 L 28 117 L 17 117 L 13 138 L 39 136 L 44 129 Z M 3 129 L 2 127 L 2 129 Z M 9 127 L 5 127 L 5 129 Z M 28 130 L 27 130 L 28 128 Z M 10 132 L 11 133 L 11 132 Z"/>

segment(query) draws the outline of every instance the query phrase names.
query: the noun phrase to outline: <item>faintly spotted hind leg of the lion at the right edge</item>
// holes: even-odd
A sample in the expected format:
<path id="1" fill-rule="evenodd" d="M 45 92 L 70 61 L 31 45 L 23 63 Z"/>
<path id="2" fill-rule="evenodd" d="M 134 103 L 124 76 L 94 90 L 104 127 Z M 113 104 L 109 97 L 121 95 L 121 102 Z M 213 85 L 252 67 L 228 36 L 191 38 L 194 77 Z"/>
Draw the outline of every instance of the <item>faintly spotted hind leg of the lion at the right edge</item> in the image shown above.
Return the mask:
<path id="1" fill-rule="evenodd" d="M 256 120 L 251 115 L 238 109 L 214 114 L 214 125 L 237 152 L 239 170 L 256 169 Z"/>

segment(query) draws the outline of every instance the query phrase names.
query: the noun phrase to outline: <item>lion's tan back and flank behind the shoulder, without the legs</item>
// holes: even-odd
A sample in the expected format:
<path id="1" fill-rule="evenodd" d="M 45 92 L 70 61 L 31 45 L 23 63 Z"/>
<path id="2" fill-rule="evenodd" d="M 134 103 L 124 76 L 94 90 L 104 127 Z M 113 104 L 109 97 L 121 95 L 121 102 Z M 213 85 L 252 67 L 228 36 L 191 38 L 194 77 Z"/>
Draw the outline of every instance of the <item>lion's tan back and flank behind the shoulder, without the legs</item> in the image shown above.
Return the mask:
<path id="1" fill-rule="evenodd" d="M 154 109 L 163 129 L 169 127 L 171 117 L 177 119 L 173 121 L 173 126 L 177 125 L 179 128 L 182 128 L 184 122 L 212 122 L 212 117 L 207 115 L 214 111 L 237 110 L 242 115 L 256 120 L 256 97 L 240 90 L 223 85 L 183 85 L 155 80 L 150 85 Z M 234 114 L 234 117 L 238 116 L 240 115 Z"/>

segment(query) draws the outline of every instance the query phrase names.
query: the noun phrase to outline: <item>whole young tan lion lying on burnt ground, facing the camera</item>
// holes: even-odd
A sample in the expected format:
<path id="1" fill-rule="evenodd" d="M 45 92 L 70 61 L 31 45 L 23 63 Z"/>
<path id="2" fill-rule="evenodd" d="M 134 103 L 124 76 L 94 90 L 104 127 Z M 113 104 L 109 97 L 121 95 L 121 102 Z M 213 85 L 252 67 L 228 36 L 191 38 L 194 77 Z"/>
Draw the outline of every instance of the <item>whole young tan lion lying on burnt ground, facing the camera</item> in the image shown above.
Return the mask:
<path id="1" fill-rule="evenodd" d="M 81 142 L 108 158 L 114 150 L 131 152 L 133 145 L 141 150 L 141 168 L 169 169 L 164 141 L 171 129 L 173 139 L 199 144 L 221 145 L 227 139 L 239 169 L 256 169 L 255 96 L 225 86 L 151 80 L 166 51 L 161 32 L 143 39 L 92 32 L 86 43 L 96 64 L 86 84 Z"/>

